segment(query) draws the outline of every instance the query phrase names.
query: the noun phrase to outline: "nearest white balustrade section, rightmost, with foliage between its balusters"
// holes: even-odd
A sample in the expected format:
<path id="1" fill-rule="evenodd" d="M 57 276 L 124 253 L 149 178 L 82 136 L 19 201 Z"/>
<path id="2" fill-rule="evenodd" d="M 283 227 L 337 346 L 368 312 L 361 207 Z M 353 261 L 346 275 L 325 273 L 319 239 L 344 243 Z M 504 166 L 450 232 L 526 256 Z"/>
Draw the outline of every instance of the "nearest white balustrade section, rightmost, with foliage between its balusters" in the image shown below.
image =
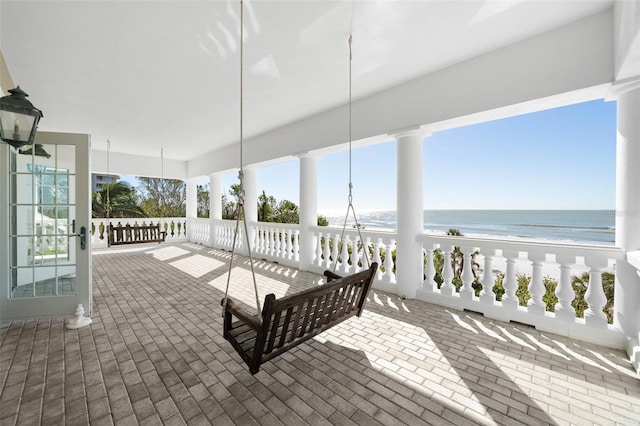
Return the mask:
<path id="1" fill-rule="evenodd" d="M 615 261 L 625 258 L 621 249 L 426 234 L 417 240 L 425 255 L 425 278 L 417 291 L 418 299 L 583 340 L 619 343 L 619 332 L 609 325 L 603 312 L 607 298 L 602 273 L 615 273 Z M 441 271 L 436 271 L 436 254 L 443 259 Z M 504 274 L 502 289 L 497 288 L 496 281 L 500 273 Z M 572 279 L 585 273 L 589 277 L 584 295 L 588 309 L 577 318 L 572 306 L 576 297 Z M 526 289 L 519 288 L 519 275 L 529 278 Z M 545 283 L 554 281 L 557 302 L 548 307 Z M 500 298 L 494 290 L 503 290 L 504 294 Z"/>

